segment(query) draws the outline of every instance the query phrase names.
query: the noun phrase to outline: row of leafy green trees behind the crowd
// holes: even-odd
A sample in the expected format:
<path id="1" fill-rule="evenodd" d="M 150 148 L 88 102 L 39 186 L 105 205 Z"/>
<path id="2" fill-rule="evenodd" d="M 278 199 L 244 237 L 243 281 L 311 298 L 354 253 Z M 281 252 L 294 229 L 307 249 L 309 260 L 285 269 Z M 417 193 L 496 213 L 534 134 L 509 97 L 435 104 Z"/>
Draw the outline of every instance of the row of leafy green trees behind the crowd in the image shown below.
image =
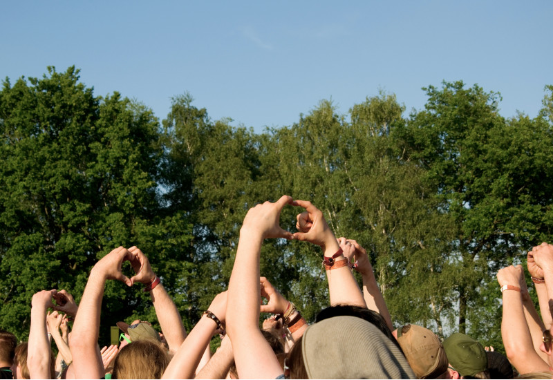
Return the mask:
<path id="1" fill-rule="evenodd" d="M 0 92 L 0 327 L 26 339 L 30 299 L 79 301 L 114 247 L 150 258 L 189 330 L 232 270 L 249 207 L 312 201 L 336 236 L 370 253 L 395 325 L 467 332 L 501 347 L 500 267 L 553 236 L 553 86 L 543 108 L 502 117 L 500 96 L 444 82 L 404 115 L 379 93 L 339 115 L 322 101 L 297 123 L 256 134 L 211 120 L 190 95 L 160 123 L 79 71 L 3 82 Z M 294 231 L 285 208 L 283 228 Z M 328 305 L 321 251 L 263 245 L 261 273 L 310 320 Z M 124 272 L 131 273 L 130 266 Z M 106 285 L 102 339 L 117 321 L 156 321 L 149 294 Z"/>

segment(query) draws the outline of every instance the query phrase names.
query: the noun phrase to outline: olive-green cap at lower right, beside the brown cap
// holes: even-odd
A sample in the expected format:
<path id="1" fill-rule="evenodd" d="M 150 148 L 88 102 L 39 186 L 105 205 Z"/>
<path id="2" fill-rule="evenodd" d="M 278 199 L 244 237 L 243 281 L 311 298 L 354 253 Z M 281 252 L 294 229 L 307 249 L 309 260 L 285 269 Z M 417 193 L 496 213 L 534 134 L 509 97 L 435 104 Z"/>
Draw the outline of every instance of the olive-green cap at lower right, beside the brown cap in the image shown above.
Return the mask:
<path id="1" fill-rule="evenodd" d="M 456 332 L 444 341 L 449 363 L 461 376 L 474 376 L 487 370 L 486 350 L 470 336 Z"/>

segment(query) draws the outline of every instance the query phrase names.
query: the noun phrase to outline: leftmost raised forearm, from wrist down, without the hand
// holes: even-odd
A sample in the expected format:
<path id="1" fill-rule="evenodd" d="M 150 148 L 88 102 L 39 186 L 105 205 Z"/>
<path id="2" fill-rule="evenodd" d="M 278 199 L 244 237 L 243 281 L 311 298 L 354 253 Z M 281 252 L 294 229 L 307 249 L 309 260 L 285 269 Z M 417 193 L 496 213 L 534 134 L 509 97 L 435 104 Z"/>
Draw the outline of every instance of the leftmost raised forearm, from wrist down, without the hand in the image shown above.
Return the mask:
<path id="1" fill-rule="evenodd" d="M 46 334 L 46 307 L 31 307 L 27 367 L 31 379 L 50 379 L 50 346 Z"/>

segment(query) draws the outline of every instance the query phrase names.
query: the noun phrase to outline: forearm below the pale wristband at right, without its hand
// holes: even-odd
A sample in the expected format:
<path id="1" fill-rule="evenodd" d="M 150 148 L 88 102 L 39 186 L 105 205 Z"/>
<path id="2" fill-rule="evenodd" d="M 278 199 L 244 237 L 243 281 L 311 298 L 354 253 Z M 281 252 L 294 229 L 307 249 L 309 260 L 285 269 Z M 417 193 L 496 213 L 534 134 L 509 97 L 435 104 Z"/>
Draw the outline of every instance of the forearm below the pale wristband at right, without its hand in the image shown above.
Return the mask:
<path id="1" fill-rule="evenodd" d="M 524 316 L 521 293 L 515 290 L 503 292 L 501 337 L 507 358 L 519 373 L 549 370 L 549 365 L 534 350 Z"/>

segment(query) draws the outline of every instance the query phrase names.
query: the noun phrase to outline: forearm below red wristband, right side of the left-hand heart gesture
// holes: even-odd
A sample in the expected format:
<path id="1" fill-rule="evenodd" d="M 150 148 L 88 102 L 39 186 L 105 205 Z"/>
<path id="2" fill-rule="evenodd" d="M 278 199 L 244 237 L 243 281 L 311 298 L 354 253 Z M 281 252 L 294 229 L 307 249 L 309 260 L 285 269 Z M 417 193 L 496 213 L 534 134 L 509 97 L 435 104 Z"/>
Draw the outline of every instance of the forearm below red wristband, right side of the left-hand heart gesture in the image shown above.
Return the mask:
<path id="1" fill-rule="evenodd" d="M 150 290 L 150 296 L 169 350 L 176 351 L 186 338 L 177 307 L 161 283 Z"/>

